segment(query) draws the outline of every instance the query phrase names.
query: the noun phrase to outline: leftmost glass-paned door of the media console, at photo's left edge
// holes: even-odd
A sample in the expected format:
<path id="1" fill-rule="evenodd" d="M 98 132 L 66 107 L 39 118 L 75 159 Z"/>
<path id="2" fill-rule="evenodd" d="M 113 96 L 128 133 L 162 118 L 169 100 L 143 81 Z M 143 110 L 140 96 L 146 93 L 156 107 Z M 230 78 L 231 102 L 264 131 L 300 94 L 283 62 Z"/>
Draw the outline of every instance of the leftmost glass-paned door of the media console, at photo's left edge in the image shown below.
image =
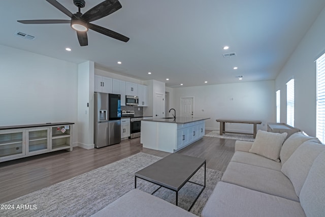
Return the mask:
<path id="1" fill-rule="evenodd" d="M 25 155 L 24 131 L 0 133 L 0 158 Z"/>

